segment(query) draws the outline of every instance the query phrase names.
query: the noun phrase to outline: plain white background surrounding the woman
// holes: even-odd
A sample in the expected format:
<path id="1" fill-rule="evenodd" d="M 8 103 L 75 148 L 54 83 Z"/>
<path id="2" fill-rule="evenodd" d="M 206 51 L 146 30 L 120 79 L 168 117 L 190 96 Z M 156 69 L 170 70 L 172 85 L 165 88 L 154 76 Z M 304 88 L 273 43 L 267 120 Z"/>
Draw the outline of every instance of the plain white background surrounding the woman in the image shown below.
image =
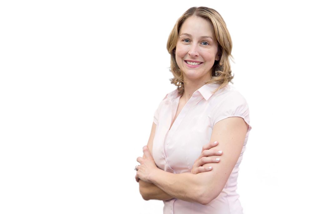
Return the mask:
<path id="1" fill-rule="evenodd" d="M 192 6 L 233 41 L 252 130 L 246 214 L 319 213 L 319 13 L 311 1 L 1 1 L 0 213 L 162 213 L 134 180 Z"/>

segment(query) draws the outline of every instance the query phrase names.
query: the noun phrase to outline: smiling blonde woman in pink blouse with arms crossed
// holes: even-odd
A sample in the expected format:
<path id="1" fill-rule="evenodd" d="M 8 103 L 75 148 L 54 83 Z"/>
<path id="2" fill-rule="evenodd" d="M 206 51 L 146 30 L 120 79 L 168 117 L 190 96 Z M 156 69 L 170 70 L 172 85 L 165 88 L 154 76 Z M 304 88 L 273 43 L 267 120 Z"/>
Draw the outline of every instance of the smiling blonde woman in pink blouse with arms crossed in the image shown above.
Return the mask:
<path id="1" fill-rule="evenodd" d="M 229 85 L 226 24 L 213 9 L 190 8 L 172 29 L 167 49 L 177 89 L 160 103 L 144 156 L 137 158 L 140 192 L 160 189 L 164 213 L 242 213 L 236 180 L 251 126 L 244 97 Z M 201 148 L 215 141 L 223 159 L 203 164 Z M 195 173 L 202 164 L 213 169 Z"/>

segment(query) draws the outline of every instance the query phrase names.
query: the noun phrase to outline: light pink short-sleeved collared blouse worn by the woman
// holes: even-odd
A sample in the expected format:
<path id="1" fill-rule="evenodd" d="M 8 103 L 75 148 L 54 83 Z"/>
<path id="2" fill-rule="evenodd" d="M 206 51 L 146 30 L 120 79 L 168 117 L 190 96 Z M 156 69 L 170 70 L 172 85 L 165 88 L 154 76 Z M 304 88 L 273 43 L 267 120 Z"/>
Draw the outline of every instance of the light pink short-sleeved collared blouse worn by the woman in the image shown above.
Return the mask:
<path id="1" fill-rule="evenodd" d="M 212 95 L 217 84 L 196 90 L 170 125 L 178 108 L 177 89 L 165 96 L 154 115 L 156 133 L 152 155 L 156 165 L 167 172 L 190 172 L 202 146 L 209 143 L 213 126 L 228 117 L 241 117 L 249 125 L 249 108 L 244 97 L 230 84 Z M 164 201 L 164 214 L 240 214 L 236 193 L 239 165 L 248 140 L 249 125 L 240 157 L 220 195 L 207 205 L 173 198 Z M 222 142 L 221 142 L 222 143 Z M 219 163 L 217 163 L 219 164 Z"/>

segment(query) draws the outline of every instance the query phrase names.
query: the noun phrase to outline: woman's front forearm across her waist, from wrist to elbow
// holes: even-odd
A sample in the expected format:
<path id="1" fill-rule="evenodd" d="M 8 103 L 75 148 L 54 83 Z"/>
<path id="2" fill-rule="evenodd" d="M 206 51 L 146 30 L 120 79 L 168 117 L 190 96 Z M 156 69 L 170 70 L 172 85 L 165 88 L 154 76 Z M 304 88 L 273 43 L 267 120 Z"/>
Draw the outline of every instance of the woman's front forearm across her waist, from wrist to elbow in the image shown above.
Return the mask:
<path id="1" fill-rule="evenodd" d="M 156 170 L 150 175 L 150 181 L 174 198 L 204 204 L 204 186 L 197 175 Z"/>

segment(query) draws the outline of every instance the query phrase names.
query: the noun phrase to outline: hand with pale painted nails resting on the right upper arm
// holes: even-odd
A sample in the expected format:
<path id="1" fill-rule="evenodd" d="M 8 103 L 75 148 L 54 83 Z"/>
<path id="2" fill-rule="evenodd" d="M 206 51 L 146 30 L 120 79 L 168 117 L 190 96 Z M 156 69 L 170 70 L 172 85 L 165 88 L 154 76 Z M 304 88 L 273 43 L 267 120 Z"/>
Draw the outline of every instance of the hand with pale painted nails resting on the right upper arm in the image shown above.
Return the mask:
<path id="1" fill-rule="evenodd" d="M 192 166 L 191 169 L 191 173 L 193 174 L 198 174 L 200 172 L 207 172 L 212 170 L 212 167 L 210 169 L 210 167 L 203 167 L 202 165 L 204 165 L 205 163 L 218 163 L 220 162 L 220 158 L 219 160 L 216 159 L 216 157 L 213 157 L 213 155 L 221 155 L 222 151 L 218 151 L 217 149 L 213 149 L 213 147 L 215 147 L 216 145 L 218 145 L 218 142 L 212 142 L 212 143 L 208 143 L 206 145 L 204 145 L 202 147 L 202 151 L 200 156 L 197 158 L 197 160 L 195 161 L 195 163 Z"/>

